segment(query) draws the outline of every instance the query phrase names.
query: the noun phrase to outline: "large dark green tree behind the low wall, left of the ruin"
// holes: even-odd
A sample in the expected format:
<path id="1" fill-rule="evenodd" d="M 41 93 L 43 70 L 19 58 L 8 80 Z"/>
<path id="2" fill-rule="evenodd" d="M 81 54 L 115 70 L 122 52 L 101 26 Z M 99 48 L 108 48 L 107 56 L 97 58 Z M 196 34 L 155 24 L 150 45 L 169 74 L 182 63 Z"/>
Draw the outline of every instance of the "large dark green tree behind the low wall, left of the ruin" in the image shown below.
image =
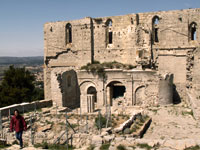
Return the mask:
<path id="1" fill-rule="evenodd" d="M 37 83 L 34 75 L 25 67 L 10 66 L 4 72 L 0 85 L 0 107 L 43 98 L 43 83 Z"/>

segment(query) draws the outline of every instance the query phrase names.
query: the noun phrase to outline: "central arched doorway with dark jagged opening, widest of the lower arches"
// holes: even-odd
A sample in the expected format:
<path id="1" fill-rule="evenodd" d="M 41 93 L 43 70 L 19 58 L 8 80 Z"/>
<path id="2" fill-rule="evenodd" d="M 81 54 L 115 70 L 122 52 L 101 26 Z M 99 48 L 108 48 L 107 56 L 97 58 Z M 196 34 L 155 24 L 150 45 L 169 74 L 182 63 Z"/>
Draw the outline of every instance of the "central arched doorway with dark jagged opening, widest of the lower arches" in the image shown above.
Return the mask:
<path id="1" fill-rule="evenodd" d="M 126 87 L 119 81 L 112 81 L 107 85 L 106 92 L 107 92 L 106 104 L 112 106 L 114 99 L 124 97 L 124 93 L 126 92 Z"/>

